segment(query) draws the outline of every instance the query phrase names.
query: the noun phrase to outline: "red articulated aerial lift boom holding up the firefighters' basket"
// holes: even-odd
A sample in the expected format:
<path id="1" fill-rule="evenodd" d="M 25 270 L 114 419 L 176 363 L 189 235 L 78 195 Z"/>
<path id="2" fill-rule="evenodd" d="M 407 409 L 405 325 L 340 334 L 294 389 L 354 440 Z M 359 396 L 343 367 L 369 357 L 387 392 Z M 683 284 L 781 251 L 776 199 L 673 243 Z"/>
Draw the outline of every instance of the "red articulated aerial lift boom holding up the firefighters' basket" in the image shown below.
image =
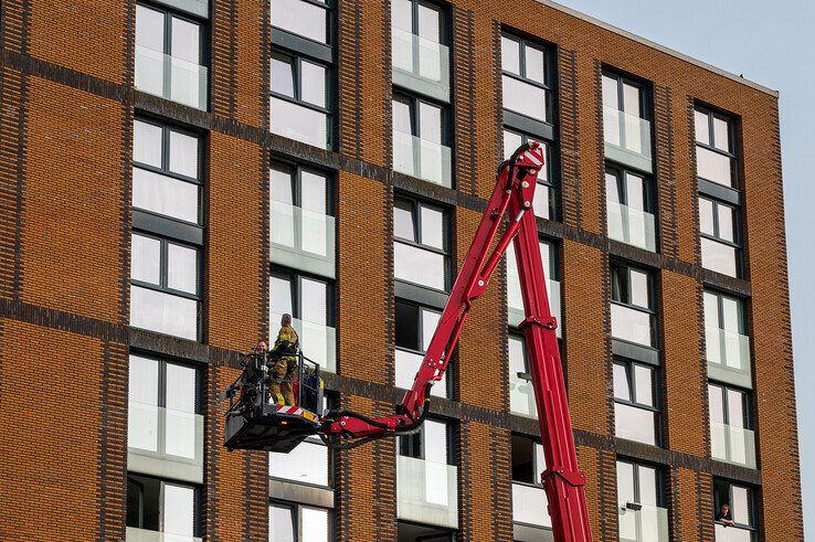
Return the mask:
<path id="1" fill-rule="evenodd" d="M 549 500 L 554 540 L 591 541 L 585 479 L 578 469 L 555 337 L 557 321 L 549 309 L 532 212 L 536 179 L 542 167 L 543 149 L 537 142 L 521 146 L 499 167 L 493 195 L 416 373 L 413 387 L 408 391 L 402 403 L 396 405 L 395 414 L 369 418 L 349 411 L 328 411 L 317 419 L 314 416 L 292 418 L 286 414 L 287 407 L 272 405 L 272 415 L 265 416 L 266 422 L 261 423 L 263 415 L 250 416 L 246 410 L 241 413 L 231 405 L 226 418 L 226 446 L 230 449 L 287 451 L 307 435 L 318 434 L 334 447 L 348 448 L 372 439 L 416 431 L 428 412 L 431 386 L 444 376 L 449 353 L 456 347 L 473 301 L 484 294 L 501 256 L 512 240 L 516 240 L 515 251 L 526 312 L 520 328 L 526 341 L 543 454 L 548 465 L 542 481 Z M 505 216 L 509 217 L 508 225 L 498 237 L 495 248 L 491 248 Z M 303 362 L 300 365 L 303 366 Z M 237 387 L 240 386 L 235 389 Z M 234 396 L 234 391 L 227 391 L 227 395 Z M 256 394 L 253 395 L 255 396 Z M 263 397 L 264 393 L 261 392 L 260 396 Z M 265 405 L 266 402 L 263 403 Z M 269 408 L 256 406 L 253 412 L 263 414 L 264 407 Z M 298 425 L 300 421 L 304 423 Z M 258 424 L 265 428 L 257 429 Z"/>

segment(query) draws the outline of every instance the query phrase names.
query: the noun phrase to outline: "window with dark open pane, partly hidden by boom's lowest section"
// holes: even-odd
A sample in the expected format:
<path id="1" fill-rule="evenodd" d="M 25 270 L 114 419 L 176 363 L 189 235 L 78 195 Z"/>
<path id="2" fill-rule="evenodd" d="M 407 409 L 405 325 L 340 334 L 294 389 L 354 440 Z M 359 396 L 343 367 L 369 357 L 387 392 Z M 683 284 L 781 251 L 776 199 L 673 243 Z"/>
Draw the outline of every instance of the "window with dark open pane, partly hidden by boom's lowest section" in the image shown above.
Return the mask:
<path id="1" fill-rule="evenodd" d="M 538 528 L 552 527 L 541 475 L 547 468 L 543 446 L 512 435 L 512 521 Z"/>

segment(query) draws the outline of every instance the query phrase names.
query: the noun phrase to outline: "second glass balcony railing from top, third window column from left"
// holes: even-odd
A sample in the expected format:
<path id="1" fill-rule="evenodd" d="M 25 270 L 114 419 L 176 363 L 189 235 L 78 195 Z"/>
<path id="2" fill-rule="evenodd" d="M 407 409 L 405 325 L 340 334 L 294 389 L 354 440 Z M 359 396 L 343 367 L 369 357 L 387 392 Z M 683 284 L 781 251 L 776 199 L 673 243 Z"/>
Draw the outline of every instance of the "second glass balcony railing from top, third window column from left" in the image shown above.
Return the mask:
<path id="1" fill-rule="evenodd" d="M 393 169 L 442 187 L 453 187 L 449 147 L 393 130 Z"/>

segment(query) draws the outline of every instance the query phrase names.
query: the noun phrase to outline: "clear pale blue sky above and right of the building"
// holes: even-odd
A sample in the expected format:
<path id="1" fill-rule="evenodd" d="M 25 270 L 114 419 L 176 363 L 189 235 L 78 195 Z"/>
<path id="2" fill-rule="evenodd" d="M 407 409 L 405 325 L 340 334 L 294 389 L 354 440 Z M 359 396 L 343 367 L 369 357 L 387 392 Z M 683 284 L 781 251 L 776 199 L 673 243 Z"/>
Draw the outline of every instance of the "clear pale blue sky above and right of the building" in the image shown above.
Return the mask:
<path id="1" fill-rule="evenodd" d="M 781 91 L 787 258 L 806 539 L 815 540 L 815 2 L 561 0 Z M 807 166 L 808 164 L 808 166 Z M 807 393 L 808 392 L 808 393 Z M 765 503 L 772 506 L 772 502 Z M 770 511 L 772 513 L 772 511 Z"/>

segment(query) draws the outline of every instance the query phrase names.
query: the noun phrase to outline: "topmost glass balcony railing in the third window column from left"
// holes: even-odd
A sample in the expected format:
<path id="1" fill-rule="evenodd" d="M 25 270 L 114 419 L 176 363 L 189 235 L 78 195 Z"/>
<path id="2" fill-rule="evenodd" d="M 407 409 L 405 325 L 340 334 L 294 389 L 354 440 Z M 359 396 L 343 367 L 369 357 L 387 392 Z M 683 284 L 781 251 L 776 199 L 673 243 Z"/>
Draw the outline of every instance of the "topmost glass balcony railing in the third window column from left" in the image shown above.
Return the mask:
<path id="1" fill-rule="evenodd" d="M 449 49 L 402 29 L 393 29 L 393 83 L 449 102 Z"/>

